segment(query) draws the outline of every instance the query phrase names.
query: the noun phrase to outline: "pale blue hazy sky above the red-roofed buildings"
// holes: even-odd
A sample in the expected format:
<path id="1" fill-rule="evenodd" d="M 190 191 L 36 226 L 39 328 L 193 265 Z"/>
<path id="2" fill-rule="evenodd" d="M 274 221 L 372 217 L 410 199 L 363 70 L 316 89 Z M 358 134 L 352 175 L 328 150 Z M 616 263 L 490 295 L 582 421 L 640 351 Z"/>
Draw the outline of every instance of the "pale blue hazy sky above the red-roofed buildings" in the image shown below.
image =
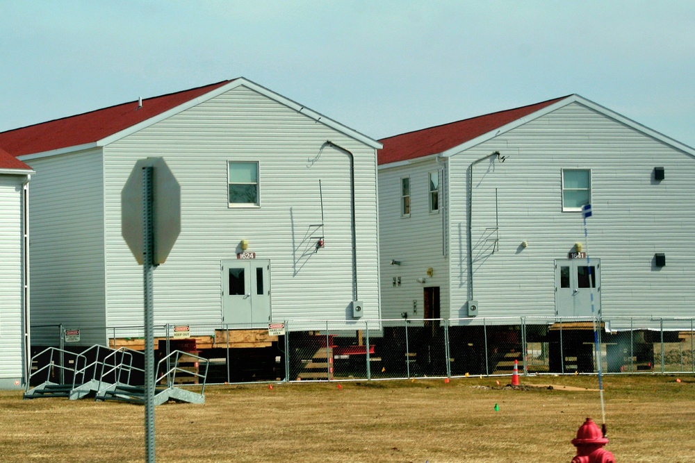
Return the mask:
<path id="1" fill-rule="evenodd" d="M 243 76 L 374 139 L 568 94 L 695 146 L 693 0 L 0 0 L 0 131 Z"/>

